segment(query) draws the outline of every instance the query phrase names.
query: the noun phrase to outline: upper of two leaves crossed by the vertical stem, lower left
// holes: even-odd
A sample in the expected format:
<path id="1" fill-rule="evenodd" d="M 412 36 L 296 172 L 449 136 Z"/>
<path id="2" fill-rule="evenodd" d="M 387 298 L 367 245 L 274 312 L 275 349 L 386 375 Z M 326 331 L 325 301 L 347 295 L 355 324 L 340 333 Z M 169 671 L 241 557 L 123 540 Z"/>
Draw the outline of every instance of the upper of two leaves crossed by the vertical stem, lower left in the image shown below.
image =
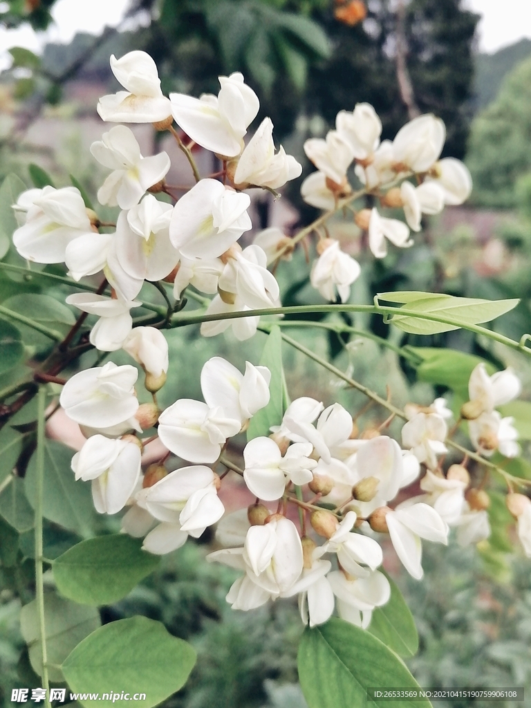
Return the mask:
<path id="1" fill-rule="evenodd" d="M 91 534 L 94 510 L 91 486 L 77 480 L 72 472 L 74 450 L 57 440 L 45 442 L 45 478 L 42 497 L 42 513 L 45 518 L 54 521 L 81 536 Z M 35 506 L 37 489 L 37 455 L 30 459 L 25 474 L 25 493 L 28 501 Z"/>

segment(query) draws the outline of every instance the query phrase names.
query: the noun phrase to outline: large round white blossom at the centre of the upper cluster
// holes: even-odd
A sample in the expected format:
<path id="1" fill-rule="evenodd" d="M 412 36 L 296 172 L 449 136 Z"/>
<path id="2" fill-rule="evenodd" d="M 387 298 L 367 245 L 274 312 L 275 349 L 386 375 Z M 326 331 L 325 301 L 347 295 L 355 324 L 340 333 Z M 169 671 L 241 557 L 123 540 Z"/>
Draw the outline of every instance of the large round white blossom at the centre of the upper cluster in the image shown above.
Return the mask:
<path id="1" fill-rule="evenodd" d="M 251 229 L 248 194 L 202 179 L 173 208 L 170 239 L 185 258 L 217 258 Z"/>

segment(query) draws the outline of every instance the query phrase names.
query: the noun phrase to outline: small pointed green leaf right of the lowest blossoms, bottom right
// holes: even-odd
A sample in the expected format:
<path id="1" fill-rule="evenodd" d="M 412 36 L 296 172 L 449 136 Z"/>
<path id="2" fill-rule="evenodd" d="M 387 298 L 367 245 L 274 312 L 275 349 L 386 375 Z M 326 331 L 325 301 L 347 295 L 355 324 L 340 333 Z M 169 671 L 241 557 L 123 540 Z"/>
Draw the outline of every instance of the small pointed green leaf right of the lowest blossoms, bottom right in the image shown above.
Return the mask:
<path id="1" fill-rule="evenodd" d="M 414 656 L 418 651 L 415 620 L 396 583 L 385 575 L 391 586 L 391 598 L 383 607 L 372 610 L 369 632 L 400 656 Z"/>

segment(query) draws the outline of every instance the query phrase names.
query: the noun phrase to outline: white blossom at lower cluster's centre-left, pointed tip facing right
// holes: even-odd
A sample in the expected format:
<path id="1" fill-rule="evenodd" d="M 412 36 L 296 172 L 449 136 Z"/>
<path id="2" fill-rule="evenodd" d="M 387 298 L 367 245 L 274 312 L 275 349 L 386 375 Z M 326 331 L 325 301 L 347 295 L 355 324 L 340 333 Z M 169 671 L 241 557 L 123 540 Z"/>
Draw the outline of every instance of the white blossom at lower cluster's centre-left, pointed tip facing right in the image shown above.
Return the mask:
<path id="1" fill-rule="evenodd" d="M 180 399 L 161 413 L 159 438 L 174 455 L 188 462 L 216 462 L 222 445 L 239 433 L 241 421 L 222 408 L 209 408 L 193 399 Z"/>

